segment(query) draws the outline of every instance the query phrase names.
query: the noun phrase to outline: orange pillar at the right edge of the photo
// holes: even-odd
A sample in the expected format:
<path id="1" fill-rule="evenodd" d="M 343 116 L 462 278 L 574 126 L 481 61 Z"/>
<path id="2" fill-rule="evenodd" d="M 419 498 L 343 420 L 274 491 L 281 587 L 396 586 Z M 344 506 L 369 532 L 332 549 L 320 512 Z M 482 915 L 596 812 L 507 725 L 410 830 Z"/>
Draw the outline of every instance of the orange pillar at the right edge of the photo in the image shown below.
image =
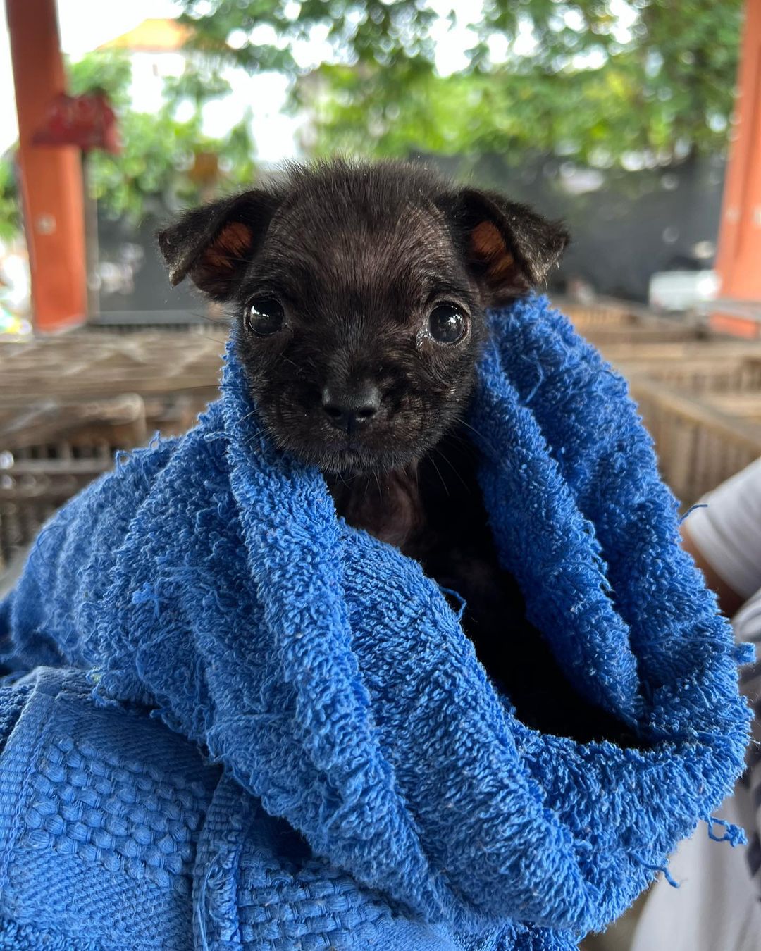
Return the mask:
<path id="1" fill-rule="evenodd" d="M 761 309 L 761 0 L 747 0 L 716 270 L 722 298 Z M 755 321 L 716 314 L 716 329 L 757 336 Z"/>

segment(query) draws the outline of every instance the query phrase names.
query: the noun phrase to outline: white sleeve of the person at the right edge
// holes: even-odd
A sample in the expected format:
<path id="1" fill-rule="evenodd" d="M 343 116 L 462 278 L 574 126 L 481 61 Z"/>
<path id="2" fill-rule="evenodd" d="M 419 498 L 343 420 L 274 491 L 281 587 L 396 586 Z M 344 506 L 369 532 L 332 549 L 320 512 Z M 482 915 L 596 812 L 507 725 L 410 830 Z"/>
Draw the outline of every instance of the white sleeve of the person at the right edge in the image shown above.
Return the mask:
<path id="1" fill-rule="evenodd" d="M 761 588 L 761 458 L 700 500 L 687 530 L 706 561 L 746 600 Z"/>

